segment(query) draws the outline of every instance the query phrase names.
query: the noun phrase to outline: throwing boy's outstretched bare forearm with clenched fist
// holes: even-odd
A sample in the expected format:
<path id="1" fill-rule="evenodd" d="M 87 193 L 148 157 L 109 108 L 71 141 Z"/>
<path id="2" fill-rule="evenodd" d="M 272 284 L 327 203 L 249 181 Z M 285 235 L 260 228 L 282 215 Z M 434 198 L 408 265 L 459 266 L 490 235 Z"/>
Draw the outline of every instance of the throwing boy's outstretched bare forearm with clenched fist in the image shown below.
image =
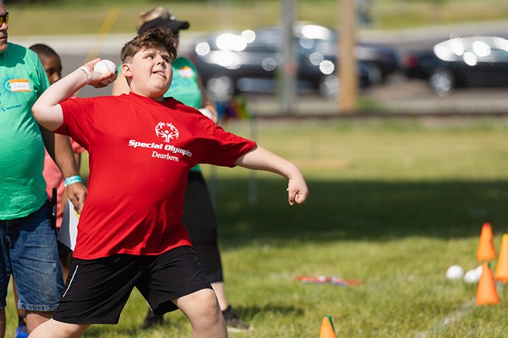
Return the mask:
<path id="1" fill-rule="evenodd" d="M 295 202 L 302 204 L 306 201 L 308 188 L 300 169 L 294 163 L 273 154 L 262 146 L 255 146 L 253 150 L 243 154 L 235 164 L 248 169 L 270 171 L 286 177 L 289 180 L 287 188 L 289 204 L 292 206 Z"/>

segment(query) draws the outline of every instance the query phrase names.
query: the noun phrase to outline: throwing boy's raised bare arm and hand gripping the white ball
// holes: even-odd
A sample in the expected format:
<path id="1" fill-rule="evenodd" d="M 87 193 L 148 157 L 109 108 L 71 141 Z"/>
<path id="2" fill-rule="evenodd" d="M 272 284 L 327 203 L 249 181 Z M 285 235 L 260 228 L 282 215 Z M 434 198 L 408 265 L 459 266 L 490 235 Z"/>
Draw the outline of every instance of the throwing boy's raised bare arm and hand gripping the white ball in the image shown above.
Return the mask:
<path id="1" fill-rule="evenodd" d="M 93 70 L 100 59 L 90 61 L 83 67 L 52 84 L 32 106 L 35 120 L 48 130 L 56 130 L 63 123 L 63 113 L 60 102 L 73 96 L 79 89 L 90 84 L 95 88 L 106 87 L 114 81 L 116 73 L 99 73 Z"/>

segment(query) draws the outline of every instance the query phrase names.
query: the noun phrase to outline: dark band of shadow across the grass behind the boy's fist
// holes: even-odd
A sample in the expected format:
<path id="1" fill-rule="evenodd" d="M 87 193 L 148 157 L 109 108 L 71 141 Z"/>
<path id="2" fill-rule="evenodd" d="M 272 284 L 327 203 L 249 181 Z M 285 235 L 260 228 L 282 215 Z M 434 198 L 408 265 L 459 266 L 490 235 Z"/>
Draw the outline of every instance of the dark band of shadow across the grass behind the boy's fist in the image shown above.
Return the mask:
<path id="1" fill-rule="evenodd" d="M 382 241 L 421 236 L 478 236 L 484 222 L 505 231 L 507 181 L 310 180 L 306 204 L 288 206 L 285 183 L 258 180 L 248 203 L 246 180 L 222 179 L 214 193 L 225 248 L 252 242 Z"/>

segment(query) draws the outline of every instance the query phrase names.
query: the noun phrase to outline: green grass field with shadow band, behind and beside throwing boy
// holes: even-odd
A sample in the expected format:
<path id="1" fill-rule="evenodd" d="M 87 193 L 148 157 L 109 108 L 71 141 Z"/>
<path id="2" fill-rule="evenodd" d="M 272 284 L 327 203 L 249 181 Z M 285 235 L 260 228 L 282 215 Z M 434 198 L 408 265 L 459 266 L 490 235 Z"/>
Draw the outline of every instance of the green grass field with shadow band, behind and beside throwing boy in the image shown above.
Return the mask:
<path id="1" fill-rule="evenodd" d="M 246 123 L 225 127 L 250 136 Z M 337 337 L 504 337 L 508 289 L 498 285 L 500 304 L 480 307 L 476 285 L 444 273 L 452 264 L 476 268 L 484 222 L 499 250 L 508 220 L 507 135 L 504 119 L 261 121 L 258 142 L 301 167 L 310 196 L 291 207 L 285 180 L 257 173 L 258 201 L 250 204 L 248 170 L 203 167 L 226 292 L 255 328 L 231 337 L 317 337 L 323 315 L 332 316 Z M 302 284 L 298 275 L 363 284 Z M 93 326 L 85 337 L 192 337 L 178 312 L 141 331 L 145 311 L 134 292 L 119 325 Z M 15 322 L 8 306 L 7 337 Z"/>

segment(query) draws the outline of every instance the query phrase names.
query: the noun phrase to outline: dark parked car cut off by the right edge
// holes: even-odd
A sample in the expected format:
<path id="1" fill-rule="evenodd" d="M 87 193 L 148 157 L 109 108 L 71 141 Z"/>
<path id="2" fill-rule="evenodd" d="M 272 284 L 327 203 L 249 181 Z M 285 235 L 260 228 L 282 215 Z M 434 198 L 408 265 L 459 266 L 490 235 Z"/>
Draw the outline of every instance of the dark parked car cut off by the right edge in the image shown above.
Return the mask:
<path id="1" fill-rule="evenodd" d="M 406 55 L 406 77 L 423 79 L 446 96 L 455 87 L 508 86 L 508 40 L 502 37 L 453 37 L 431 49 Z"/>

